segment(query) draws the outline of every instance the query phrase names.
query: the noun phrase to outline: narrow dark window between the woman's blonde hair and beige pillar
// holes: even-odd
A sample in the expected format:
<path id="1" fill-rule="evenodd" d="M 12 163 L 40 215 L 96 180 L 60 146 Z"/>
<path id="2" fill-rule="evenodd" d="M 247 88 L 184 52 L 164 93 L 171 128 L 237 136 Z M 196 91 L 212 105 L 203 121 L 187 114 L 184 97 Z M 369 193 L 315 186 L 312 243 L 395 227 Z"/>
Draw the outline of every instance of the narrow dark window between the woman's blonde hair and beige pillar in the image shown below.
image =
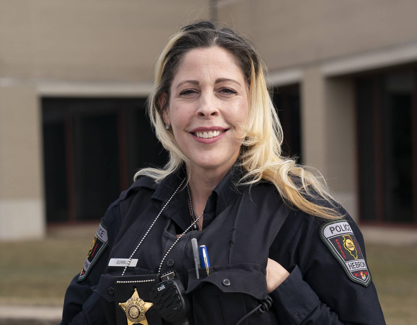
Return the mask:
<path id="1" fill-rule="evenodd" d="M 301 163 L 300 90 L 299 85 L 274 89 L 272 97 L 284 133 L 282 152 Z"/>

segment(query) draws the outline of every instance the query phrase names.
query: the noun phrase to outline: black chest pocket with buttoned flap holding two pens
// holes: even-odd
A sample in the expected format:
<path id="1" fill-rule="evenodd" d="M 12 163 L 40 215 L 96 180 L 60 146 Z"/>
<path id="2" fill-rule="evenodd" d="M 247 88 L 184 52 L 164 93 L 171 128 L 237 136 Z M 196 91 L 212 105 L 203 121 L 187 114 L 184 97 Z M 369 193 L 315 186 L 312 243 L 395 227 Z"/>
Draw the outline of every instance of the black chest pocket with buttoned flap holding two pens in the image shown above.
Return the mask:
<path id="1" fill-rule="evenodd" d="M 236 324 L 246 313 L 266 298 L 265 268 L 258 264 L 239 263 L 212 266 L 207 276 L 200 268 L 188 270 L 188 286 L 195 324 Z M 269 310 L 255 312 L 241 324 L 277 324 Z"/>

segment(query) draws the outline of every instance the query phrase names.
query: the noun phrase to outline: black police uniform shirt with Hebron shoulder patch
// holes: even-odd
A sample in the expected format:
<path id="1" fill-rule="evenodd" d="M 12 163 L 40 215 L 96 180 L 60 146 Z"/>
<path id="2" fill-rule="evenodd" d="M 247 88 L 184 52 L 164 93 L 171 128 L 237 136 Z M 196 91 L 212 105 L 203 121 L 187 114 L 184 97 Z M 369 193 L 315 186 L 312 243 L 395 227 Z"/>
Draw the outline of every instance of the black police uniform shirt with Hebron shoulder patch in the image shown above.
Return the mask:
<path id="1" fill-rule="evenodd" d="M 385 324 L 366 265 L 362 234 L 346 211 L 341 208 L 346 214 L 343 220 L 329 223 L 285 206 L 268 182 L 252 186 L 249 192 L 249 187 L 236 188 L 240 176 L 239 169 L 229 171 L 208 198 L 203 230 L 186 233 L 162 265 L 161 273 L 175 269 L 186 288 L 190 323 L 235 324 L 256 307 L 266 298 L 269 257 L 290 275 L 270 293 L 272 307 L 266 313 L 252 314 L 242 324 Z M 115 308 L 114 293 L 111 282 L 103 282 L 108 274 L 120 276 L 124 268 L 108 266 L 109 260 L 131 256 L 183 177 L 173 174 L 158 185 L 142 177 L 111 204 L 100 224 L 106 228 L 106 242 L 102 238 L 102 245 L 95 245 L 101 247 L 100 256 L 90 259 L 91 265 L 70 283 L 62 325 L 116 323 L 106 319 Z M 245 197 L 245 191 L 249 196 Z M 259 213 L 245 213 L 254 210 Z M 274 233 L 276 220 L 285 216 L 281 229 Z M 182 189 L 134 254 L 136 267 L 128 267 L 125 275 L 156 274 L 176 234 L 190 224 L 188 194 Z M 330 238 L 338 231 L 340 236 Z M 199 280 L 191 238 L 207 246 L 212 266 L 210 275 Z"/>

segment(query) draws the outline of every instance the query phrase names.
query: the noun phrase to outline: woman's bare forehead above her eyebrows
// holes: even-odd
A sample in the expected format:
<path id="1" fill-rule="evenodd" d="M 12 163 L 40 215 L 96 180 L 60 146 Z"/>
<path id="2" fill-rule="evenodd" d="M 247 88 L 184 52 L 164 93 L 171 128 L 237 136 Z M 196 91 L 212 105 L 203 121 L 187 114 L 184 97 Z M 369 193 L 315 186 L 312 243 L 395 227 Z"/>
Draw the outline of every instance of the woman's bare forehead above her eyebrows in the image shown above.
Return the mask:
<path id="1" fill-rule="evenodd" d="M 214 84 L 227 79 L 240 84 L 244 82 L 244 75 L 236 65 L 234 57 L 221 47 L 198 48 L 185 55 L 176 71 L 172 86 L 178 87 L 178 84 L 186 81 Z"/>

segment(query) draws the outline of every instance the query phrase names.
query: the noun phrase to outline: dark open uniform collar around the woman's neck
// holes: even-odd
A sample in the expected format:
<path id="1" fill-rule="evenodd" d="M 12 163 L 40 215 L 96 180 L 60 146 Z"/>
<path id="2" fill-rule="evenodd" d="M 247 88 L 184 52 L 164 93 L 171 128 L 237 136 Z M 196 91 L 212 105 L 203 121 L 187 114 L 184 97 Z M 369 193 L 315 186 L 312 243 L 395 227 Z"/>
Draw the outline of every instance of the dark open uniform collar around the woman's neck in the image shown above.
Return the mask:
<path id="1" fill-rule="evenodd" d="M 236 186 L 237 181 L 243 176 L 241 167 L 234 165 L 224 176 L 219 184 L 213 189 L 211 195 L 208 197 L 205 212 L 215 211 L 217 216 L 224 209 L 226 209 L 237 196 L 241 195 L 239 187 Z M 186 177 L 185 168 L 181 168 L 175 173 L 168 175 L 157 186 L 152 195 L 152 203 L 161 209 L 171 198 L 174 191 L 181 184 L 181 181 Z M 185 184 L 185 182 L 184 182 Z M 175 194 L 171 201 L 166 205 L 162 214 L 168 218 L 172 218 L 178 226 L 186 229 L 190 224 L 188 213 L 184 216 L 184 211 L 188 211 L 188 194 L 186 186 L 183 185 L 181 189 Z"/>

